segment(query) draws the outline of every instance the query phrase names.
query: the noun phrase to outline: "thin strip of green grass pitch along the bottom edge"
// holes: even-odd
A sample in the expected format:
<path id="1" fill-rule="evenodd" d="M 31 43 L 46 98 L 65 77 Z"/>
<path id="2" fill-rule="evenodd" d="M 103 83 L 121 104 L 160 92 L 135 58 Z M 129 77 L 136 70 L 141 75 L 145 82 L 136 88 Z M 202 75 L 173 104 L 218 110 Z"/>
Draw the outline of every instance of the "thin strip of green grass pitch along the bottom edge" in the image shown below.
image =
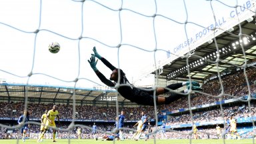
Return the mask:
<path id="1" fill-rule="evenodd" d="M 56 144 L 79 144 L 79 143 L 88 143 L 88 144 L 112 144 L 114 141 L 95 141 L 93 139 L 56 139 L 57 142 Z M 17 139 L 1 139 L 0 144 L 36 144 L 37 140 L 36 139 L 27 139 L 25 142 L 17 141 Z M 52 144 L 53 141 L 50 139 L 44 139 L 40 144 Z M 115 144 L 153 144 L 154 140 L 150 139 L 149 141 L 144 141 L 144 140 L 139 140 L 139 141 L 134 141 L 134 140 L 125 140 L 125 141 L 115 141 Z M 157 139 L 156 140 L 157 144 L 185 144 L 185 143 L 190 143 L 189 139 Z M 197 144 L 221 144 L 224 143 L 223 139 L 192 139 L 191 143 L 197 143 Z M 256 143 L 253 141 L 253 139 L 241 139 L 241 140 L 225 140 L 225 144 L 233 144 L 233 143 L 239 143 L 239 144 L 249 144 L 249 143 Z"/>

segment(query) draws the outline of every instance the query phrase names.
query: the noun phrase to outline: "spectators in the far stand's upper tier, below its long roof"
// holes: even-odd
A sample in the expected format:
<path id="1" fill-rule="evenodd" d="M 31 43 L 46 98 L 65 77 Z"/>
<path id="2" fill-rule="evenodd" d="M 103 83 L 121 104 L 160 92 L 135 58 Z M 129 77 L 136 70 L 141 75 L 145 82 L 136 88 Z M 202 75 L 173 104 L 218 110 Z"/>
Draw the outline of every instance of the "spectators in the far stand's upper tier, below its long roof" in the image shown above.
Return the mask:
<path id="1" fill-rule="evenodd" d="M 30 111 L 30 118 L 39 118 L 45 110 L 51 109 L 53 103 L 29 103 L 27 109 Z M 60 119 L 72 119 L 73 105 L 57 104 L 60 113 Z M 0 116 L 18 118 L 23 113 L 24 103 L 7 103 L 0 102 Z M 77 105 L 78 115 L 77 119 L 90 119 L 90 120 L 112 120 L 115 121 L 116 108 L 115 107 L 97 107 L 91 105 Z M 148 115 L 155 117 L 153 107 L 122 107 L 125 111 L 125 119 L 127 121 L 137 121 L 140 119 L 141 111 L 147 111 Z M 15 110 L 15 113 L 13 113 Z"/>

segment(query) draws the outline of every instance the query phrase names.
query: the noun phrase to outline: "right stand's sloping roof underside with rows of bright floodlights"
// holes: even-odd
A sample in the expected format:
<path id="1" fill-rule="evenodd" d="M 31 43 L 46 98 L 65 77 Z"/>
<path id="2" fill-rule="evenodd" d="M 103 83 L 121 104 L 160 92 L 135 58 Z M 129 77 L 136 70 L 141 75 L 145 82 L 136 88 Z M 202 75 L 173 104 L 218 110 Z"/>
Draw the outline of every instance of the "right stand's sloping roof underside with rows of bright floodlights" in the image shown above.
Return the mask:
<path id="1" fill-rule="evenodd" d="M 255 19 L 254 19 L 255 20 Z M 229 72 L 232 69 L 241 67 L 245 61 L 247 64 L 256 59 L 256 41 L 255 21 L 243 21 L 239 25 L 235 25 L 230 32 L 221 33 L 215 37 L 216 41 L 207 41 L 200 45 L 193 51 L 191 57 L 188 58 L 189 70 L 191 79 L 203 81 L 219 72 Z M 239 33 L 243 33 L 241 40 L 239 40 Z M 243 50 L 240 44 L 243 43 Z M 219 65 L 215 63 L 217 56 L 217 47 L 219 49 Z M 167 65 L 163 65 L 163 71 L 159 75 L 165 77 L 164 79 L 188 79 L 187 73 L 187 59 L 179 57 Z M 155 72 L 153 72 L 155 74 Z M 159 79 L 163 79 L 159 77 Z"/>

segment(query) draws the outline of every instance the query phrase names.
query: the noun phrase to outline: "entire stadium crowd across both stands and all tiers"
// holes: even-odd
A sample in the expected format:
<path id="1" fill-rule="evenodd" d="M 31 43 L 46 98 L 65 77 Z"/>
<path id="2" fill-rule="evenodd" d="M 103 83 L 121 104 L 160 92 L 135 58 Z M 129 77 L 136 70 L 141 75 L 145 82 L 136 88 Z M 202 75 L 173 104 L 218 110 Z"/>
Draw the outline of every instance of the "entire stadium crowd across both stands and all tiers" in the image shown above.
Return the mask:
<path id="1" fill-rule="evenodd" d="M 247 70 L 247 78 L 250 84 L 251 93 L 256 93 L 256 86 L 253 83 L 256 80 L 256 71 L 255 69 Z M 223 84 L 223 93 L 228 94 L 221 97 L 216 97 L 221 94 L 221 83 Z M 207 83 L 202 85 L 203 93 L 208 93 L 209 95 L 203 95 L 203 93 L 195 93 L 191 99 L 191 107 L 195 107 L 197 105 L 204 105 L 208 103 L 213 103 L 215 101 L 224 100 L 224 99 L 232 99 L 237 97 L 242 97 L 248 94 L 247 82 L 245 81 L 245 76 L 243 70 L 237 71 L 235 74 L 225 75 L 221 78 L 221 83 L 219 83 L 219 79 L 215 78 Z M 229 97 L 231 95 L 231 97 Z M 186 101 L 186 102 L 184 102 Z M 9 118 L 17 118 L 23 113 L 23 102 L 0 102 L 0 116 L 1 117 L 9 117 Z M 29 103 L 27 109 L 30 111 L 30 118 L 39 119 L 43 114 L 45 109 L 51 109 L 53 103 Z M 205 122 L 205 121 L 217 121 L 220 119 L 227 119 L 231 115 L 231 113 L 235 114 L 235 118 L 239 119 L 241 117 L 252 117 L 256 116 L 256 105 L 252 101 L 251 109 L 249 109 L 248 103 L 237 103 L 236 105 L 228 105 L 223 106 L 223 111 L 219 109 L 219 107 L 205 109 L 205 111 L 193 111 L 193 121 L 191 119 L 190 114 L 182 114 L 175 115 L 171 118 L 167 119 L 167 125 L 181 125 L 183 123 L 192 123 L 192 122 Z M 65 104 L 57 104 L 58 111 L 60 112 L 60 119 L 71 119 L 73 115 L 73 105 L 65 105 Z M 163 105 L 158 107 L 158 115 L 162 115 L 161 111 L 175 111 L 181 108 L 188 108 L 187 98 L 181 99 L 180 101 L 176 101 L 175 103 L 171 103 L 171 105 Z M 155 117 L 154 115 L 154 107 L 147 106 L 139 106 L 139 107 L 122 107 L 123 111 L 125 111 L 125 121 L 138 121 L 141 119 L 140 112 L 146 111 L 147 115 L 151 118 Z M 115 121 L 116 117 L 116 108 L 115 107 L 95 107 L 91 105 L 76 105 L 76 110 L 78 112 L 77 119 L 89 119 L 89 120 L 106 120 L 106 121 Z M 249 112 L 251 111 L 251 113 Z M 224 115 L 222 117 L 221 115 Z M 6 125 L 10 125 L 6 123 Z M 17 125 L 17 123 L 13 123 L 12 125 Z M 10 125 L 11 126 L 11 125 Z M 39 133 L 40 125 L 31 125 L 29 128 L 29 133 Z M 85 125 L 86 127 L 82 127 L 82 139 L 93 139 L 94 136 L 91 134 L 91 129 L 88 127 L 92 127 L 92 125 Z M 61 129 L 67 128 L 68 125 L 61 125 Z M 127 128 L 132 128 L 131 124 L 125 125 Z M 115 128 L 114 125 L 110 123 L 99 124 L 97 125 L 97 129 L 100 131 L 113 131 Z M 3 139 L 17 139 L 19 135 L 18 129 L 14 129 L 13 133 L 7 133 L 10 129 L 1 127 L 0 138 Z M 189 138 L 188 134 L 190 130 L 184 130 L 182 133 L 179 131 L 167 131 L 167 137 L 169 139 L 182 139 Z M 217 139 L 216 135 L 209 135 L 213 133 L 215 129 L 199 129 L 201 139 L 213 138 Z M 252 137 L 255 131 L 250 133 L 245 133 L 242 137 Z M 51 133 L 49 131 L 48 133 Z M 103 137 L 106 133 L 98 133 L 97 137 Z M 153 136 L 153 135 L 151 135 Z M 59 131 L 59 138 L 77 138 L 76 127 L 73 127 L 71 131 Z M 129 133 L 128 130 L 124 131 L 124 137 L 126 139 L 131 139 L 132 133 Z M 161 134 L 156 133 L 155 137 L 157 139 L 161 139 Z M 151 137 L 152 138 L 152 137 Z"/>

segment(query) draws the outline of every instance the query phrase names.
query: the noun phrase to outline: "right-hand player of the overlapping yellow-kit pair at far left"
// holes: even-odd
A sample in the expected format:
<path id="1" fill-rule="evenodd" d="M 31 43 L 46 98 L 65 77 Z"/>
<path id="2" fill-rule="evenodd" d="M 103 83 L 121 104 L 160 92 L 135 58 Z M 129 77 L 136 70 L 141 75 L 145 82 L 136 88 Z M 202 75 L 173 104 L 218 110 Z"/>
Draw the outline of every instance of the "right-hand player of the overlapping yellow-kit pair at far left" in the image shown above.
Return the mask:
<path id="1" fill-rule="evenodd" d="M 57 111 L 57 106 L 53 105 L 53 109 L 51 109 L 50 111 L 48 111 L 47 113 L 47 121 L 45 124 L 45 130 L 43 131 L 43 133 L 41 133 L 41 135 L 39 136 L 39 139 L 37 141 L 41 141 L 41 139 L 43 138 L 43 135 L 45 135 L 46 131 L 51 127 L 53 128 L 53 142 L 55 141 L 55 137 L 56 137 L 56 125 L 55 125 L 55 118 L 57 117 L 58 122 L 59 122 L 59 111 Z"/>

